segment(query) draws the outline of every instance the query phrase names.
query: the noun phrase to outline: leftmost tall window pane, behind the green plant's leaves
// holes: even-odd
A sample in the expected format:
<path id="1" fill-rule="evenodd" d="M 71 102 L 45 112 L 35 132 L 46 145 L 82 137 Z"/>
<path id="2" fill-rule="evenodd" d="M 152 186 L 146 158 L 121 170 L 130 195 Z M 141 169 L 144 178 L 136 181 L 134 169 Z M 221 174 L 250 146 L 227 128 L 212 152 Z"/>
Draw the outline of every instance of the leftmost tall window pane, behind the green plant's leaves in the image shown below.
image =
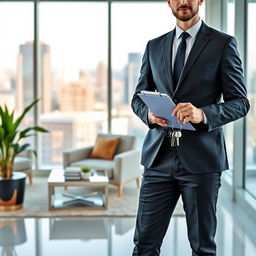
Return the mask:
<path id="1" fill-rule="evenodd" d="M 0 3 L 0 105 L 16 115 L 34 98 L 33 21 L 33 3 Z M 31 110 L 22 125 L 33 122 Z"/>

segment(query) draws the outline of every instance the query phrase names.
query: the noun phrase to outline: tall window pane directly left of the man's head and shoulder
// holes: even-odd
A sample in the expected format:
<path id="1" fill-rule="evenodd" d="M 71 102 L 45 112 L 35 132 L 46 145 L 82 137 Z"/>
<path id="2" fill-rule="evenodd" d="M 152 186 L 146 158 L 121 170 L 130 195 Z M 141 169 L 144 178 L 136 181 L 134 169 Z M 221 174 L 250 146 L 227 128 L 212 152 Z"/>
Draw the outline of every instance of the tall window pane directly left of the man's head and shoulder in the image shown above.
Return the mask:
<path id="1" fill-rule="evenodd" d="M 148 40 L 172 30 L 174 26 L 175 19 L 166 2 L 113 3 L 112 131 L 136 135 L 139 147 L 147 127 L 132 112 L 131 99 L 137 85 L 142 55 Z"/>

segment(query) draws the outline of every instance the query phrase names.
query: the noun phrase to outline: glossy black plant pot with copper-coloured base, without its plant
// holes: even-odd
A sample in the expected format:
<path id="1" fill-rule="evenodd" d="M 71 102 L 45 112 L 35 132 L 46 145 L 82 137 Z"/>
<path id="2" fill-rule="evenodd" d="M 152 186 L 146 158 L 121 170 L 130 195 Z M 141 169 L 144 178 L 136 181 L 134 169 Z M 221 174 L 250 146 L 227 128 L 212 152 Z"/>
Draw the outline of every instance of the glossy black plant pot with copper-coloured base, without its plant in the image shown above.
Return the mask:
<path id="1" fill-rule="evenodd" d="M 0 177 L 0 211 L 22 209 L 26 177 L 25 173 L 20 172 L 13 172 L 11 179 Z"/>

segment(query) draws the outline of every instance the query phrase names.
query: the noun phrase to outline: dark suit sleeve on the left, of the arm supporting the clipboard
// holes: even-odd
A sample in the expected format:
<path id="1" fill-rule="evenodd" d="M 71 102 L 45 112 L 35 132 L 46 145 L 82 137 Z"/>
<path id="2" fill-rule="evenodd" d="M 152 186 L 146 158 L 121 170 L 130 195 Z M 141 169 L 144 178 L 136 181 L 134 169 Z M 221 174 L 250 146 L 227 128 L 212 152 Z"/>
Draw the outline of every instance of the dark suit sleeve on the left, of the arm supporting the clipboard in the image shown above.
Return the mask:
<path id="1" fill-rule="evenodd" d="M 153 80 L 152 76 L 152 71 L 150 67 L 150 62 L 149 62 L 149 44 L 150 41 L 148 42 L 146 46 L 146 50 L 144 52 L 143 58 L 142 58 L 142 65 L 141 65 L 141 70 L 140 70 L 140 76 L 138 80 L 138 84 L 135 90 L 135 93 L 132 98 L 132 109 L 133 112 L 150 128 L 153 129 L 157 124 L 151 124 L 149 123 L 148 120 L 148 107 L 146 104 L 140 99 L 140 97 L 137 95 L 140 93 L 142 90 L 147 90 L 147 91 L 154 91 L 155 90 L 155 83 Z"/>

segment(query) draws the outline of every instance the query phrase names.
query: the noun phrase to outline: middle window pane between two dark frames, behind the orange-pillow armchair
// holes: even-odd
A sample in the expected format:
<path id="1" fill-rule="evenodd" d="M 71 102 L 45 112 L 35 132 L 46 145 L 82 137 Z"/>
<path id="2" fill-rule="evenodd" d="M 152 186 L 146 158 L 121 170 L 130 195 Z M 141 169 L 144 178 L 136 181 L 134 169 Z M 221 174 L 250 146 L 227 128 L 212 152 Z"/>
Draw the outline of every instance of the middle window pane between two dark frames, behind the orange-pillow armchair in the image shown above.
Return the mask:
<path id="1" fill-rule="evenodd" d="M 39 6 L 42 164 L 107 132 L 107 3 Z"/>

